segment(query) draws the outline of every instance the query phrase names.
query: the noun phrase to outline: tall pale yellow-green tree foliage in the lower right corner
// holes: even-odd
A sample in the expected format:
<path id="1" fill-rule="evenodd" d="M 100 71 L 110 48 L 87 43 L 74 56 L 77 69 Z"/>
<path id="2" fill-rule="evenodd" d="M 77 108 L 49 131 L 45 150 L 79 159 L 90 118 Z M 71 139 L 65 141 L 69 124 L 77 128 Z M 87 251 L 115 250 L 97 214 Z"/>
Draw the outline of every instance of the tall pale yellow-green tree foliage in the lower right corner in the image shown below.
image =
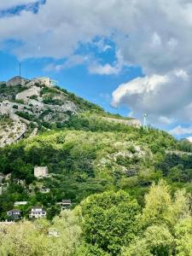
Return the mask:
<path id="1" fill-rule="evenodd" d="M 140 223 L 142 229 L 131 245 L 124 248 L 124 256 L 192 255 L 190 201 L 184 189 L 172 196 L 163 180 L 153 184 L 145 195 Z"/>

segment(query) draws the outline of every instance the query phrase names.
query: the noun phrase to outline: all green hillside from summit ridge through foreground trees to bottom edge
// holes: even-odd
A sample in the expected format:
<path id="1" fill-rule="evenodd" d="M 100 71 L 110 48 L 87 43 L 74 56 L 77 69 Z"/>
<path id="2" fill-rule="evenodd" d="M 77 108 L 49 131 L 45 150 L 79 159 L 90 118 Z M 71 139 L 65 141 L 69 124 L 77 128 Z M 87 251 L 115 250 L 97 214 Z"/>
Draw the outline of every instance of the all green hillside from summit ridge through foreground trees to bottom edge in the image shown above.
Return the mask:
<path id="1" fill-rule="evenodd" d="M 0 253 L 192 255 L 192 144 L 67 90 L 36 85 L 39 96 L 27 104 L 15 99 L 25 86 L 0 87 L 2 111 L 15 108 L 20 117 L 0 119 Z M 36 177 L 37 166 L 49 175 Z M 61 210 L 63 200 L 71 211 Z M 36 205 L 47 218 L 29 221 Z M 22 219 L 3 223 L 15 207 Z"/>

